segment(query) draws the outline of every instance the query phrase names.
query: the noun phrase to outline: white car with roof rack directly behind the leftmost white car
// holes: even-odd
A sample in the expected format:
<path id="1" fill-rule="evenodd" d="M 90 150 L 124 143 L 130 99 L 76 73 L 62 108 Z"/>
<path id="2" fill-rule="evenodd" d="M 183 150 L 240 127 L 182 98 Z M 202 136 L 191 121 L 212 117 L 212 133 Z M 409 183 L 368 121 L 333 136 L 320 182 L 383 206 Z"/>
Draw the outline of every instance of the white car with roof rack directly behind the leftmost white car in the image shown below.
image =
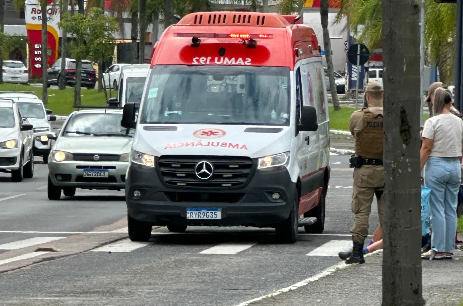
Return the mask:
<path id="1" fill-rule="evenodd" d="M 11 99 L 19 108 L 23 118 L 34 127 L 34 155 L 42 156 L 44 163 L 48 162 L 51 140 L 47 133 L 51 130 L 50 121 L 56 116 L 50 115 L 51 110 L 45 110 L 42 100 L 34 92 L 1 92 L 0 98 Z"/>

